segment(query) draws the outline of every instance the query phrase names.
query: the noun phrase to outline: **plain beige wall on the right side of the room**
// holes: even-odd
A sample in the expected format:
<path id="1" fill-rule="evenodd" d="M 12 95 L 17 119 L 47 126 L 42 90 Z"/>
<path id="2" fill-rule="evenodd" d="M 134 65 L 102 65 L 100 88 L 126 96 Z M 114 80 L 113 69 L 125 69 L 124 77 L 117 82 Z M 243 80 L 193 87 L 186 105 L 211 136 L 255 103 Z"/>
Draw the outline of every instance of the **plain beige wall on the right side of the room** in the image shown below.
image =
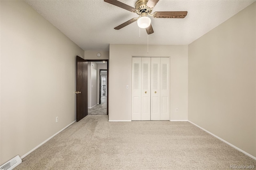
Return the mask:
<path id="1" fill-rule="evenodd" d="M 256 156 L 256 3 L 188 45 L 188 120 Z"/>

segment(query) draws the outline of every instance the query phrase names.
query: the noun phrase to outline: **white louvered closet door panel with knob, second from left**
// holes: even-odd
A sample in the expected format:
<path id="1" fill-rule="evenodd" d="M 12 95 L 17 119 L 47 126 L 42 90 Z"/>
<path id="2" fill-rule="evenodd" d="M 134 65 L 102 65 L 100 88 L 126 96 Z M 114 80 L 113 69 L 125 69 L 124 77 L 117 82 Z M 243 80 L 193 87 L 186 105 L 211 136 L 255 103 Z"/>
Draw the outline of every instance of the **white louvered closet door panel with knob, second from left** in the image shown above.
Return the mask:
<path id="1" fill-rule="evenodd" d="M 150 57 L 141 58 L 141 120 L 150 121 Z"/>

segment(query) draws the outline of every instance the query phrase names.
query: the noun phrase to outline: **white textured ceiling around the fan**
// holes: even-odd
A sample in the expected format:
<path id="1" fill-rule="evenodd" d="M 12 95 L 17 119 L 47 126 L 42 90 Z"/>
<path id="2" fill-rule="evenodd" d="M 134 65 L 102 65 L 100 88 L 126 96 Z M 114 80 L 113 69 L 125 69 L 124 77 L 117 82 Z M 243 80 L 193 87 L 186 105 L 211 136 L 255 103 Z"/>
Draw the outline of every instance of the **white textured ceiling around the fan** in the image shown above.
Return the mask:
<path id="1" fill-rule="evenodd" d="M 114 27 L 137 14 L 104 0 L 25 0 L 82 49 L 109 51 L 110 43 L 147 44 L 145 29 L 134 22 Z M 135 7 L 137 0 L 119 0 Z M 149 44 L 188 45 L 255 0 L 160 0 L 155 11 L 188 11 L 184 19 L 151 18 L 154 33 Z M 140 33 L 140 38 L 139 38 Z"/>

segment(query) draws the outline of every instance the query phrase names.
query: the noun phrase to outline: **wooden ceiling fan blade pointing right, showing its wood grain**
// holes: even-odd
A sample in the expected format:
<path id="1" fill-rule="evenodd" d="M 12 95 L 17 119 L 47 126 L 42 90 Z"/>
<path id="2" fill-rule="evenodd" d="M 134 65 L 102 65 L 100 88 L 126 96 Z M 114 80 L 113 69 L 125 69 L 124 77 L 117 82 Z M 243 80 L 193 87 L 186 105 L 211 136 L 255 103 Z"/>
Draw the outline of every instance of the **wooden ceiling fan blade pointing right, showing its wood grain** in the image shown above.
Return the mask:
<path id="1" fill-rule="evenodd" d="M 188 14 L 188 11 L 162 11 L 154 12 L 154 18 L 185 18 Z"/>

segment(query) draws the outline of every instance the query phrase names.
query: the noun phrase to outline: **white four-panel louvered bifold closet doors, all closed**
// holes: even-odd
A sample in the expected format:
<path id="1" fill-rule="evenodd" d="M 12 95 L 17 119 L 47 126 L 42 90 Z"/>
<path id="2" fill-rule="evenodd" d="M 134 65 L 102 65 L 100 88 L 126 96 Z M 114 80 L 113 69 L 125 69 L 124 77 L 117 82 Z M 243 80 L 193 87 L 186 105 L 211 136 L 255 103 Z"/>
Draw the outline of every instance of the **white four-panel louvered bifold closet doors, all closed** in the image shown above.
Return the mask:
<path id="1" fill-rule="evenodd" d="M 132 57 L 132 121 L 170 116 L 169 57 Z"/>

